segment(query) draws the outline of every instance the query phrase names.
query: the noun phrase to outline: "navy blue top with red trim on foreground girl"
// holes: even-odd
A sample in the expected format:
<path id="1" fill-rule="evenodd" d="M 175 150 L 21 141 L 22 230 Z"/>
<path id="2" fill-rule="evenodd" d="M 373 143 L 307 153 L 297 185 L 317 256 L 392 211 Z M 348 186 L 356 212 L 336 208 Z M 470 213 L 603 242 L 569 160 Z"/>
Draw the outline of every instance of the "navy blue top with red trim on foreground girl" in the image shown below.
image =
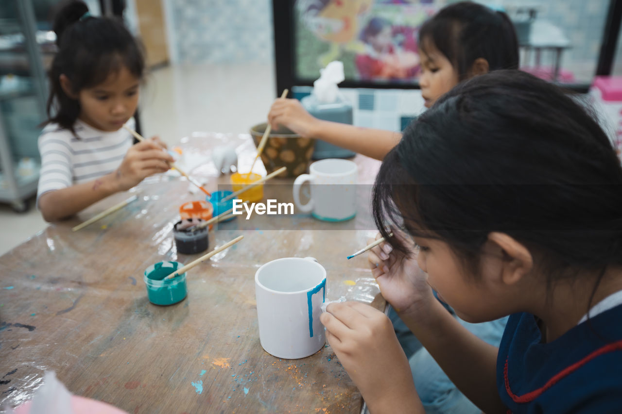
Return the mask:
<path id="1" fill-rule="evenodd" d="M 533 315 L 511 315 L 497 388 L 508 413 L 622 413 L 622 305 L 547 344 Z"/>

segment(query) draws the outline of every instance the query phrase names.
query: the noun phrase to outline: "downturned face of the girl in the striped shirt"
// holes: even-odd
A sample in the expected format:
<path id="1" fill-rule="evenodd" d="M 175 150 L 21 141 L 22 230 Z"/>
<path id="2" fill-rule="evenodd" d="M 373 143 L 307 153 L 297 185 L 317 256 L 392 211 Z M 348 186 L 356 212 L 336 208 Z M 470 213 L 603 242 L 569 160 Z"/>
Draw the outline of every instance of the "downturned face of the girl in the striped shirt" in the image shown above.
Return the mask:
<path id="1" fill-rule="evenodd" d="M 117 131 L 136 112 L 138 88 L 139 79 L 122 67 L 100 85 L 80 91 L 80 119 L 101 131 Z"/>

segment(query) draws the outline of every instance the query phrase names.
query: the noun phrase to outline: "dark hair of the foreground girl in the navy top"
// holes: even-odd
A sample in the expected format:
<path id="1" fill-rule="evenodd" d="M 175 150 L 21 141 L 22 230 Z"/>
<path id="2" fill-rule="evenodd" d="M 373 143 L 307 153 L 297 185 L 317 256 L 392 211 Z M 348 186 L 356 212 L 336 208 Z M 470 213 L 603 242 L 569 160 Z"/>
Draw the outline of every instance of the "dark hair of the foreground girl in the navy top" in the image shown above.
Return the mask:
<path id="1" fill-rule="evenodd" d="M 381 165 L 373 214 L 384 237 L 392 226 L 440 239 L 474 274 L 493 231 L 524 244 L 549 286 L 622 265 L 613 144 L 583 106 L 522 71 L 475 76 L 412 122 Z"/>

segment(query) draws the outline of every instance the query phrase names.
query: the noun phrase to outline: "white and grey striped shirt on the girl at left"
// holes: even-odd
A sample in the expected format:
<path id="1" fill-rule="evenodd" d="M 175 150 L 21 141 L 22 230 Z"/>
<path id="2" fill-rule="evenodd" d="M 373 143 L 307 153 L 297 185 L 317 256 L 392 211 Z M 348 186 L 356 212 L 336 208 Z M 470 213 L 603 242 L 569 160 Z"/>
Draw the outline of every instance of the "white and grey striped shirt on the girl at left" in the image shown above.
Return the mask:
<path id="1" fill-rule="evenodd" d="M 134 128 L 134 119 L 128 122 Z M 76 121 L 76 134 L 58 124 L 47 125 L 39 137 L 41 172 L 37 204 L 41 195 L 89 182 L 116 170 L 132 146 L 132 136 L 121 128 L 114 132 L 95 129 Z"/>

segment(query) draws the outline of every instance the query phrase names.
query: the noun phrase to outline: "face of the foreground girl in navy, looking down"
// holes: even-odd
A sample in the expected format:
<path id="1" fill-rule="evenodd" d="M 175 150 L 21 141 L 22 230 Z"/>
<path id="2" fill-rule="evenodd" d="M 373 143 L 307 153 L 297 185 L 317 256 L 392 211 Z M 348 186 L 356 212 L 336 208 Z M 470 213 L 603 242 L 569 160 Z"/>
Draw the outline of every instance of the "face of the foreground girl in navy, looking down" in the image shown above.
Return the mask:
<path id="1" fill-rule="evenodd" d="M 428 274 L 428 284 L 462 320 L 478 323 L 508 315 L 503 303 L 499 304 L 503 295 L 490 283 L 494 280 L 491 275 L 499 270 L 494 260 L 486 260 L 483 254 L 480 274 L 474 276 L 466 272 L 446 242 L 415 237 L 415 243 L 419 246 L 417 264 Z"/>

